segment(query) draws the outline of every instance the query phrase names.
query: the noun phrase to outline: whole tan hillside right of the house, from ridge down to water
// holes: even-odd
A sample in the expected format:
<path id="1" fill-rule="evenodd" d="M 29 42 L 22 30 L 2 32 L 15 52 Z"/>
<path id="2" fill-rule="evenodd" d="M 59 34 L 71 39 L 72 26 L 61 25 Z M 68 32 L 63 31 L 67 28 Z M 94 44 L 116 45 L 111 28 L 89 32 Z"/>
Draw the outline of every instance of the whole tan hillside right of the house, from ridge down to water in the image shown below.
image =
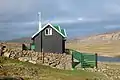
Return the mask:
<path id="1" fill-rule="evenodd" d="M 120 56 L 120 32 L 110 32 L 84 39 L 76 39 L 67 43 L 67 48 L 86 53 L 98 53 L 102 56 Z"/>

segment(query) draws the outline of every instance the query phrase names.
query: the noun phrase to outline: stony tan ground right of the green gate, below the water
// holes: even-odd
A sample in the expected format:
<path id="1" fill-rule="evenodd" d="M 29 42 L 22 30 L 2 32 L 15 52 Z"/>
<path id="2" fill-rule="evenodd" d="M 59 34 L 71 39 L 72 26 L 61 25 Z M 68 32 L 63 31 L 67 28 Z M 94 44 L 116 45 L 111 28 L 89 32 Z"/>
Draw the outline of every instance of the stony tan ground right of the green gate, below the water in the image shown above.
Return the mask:
<path id="1" fill-rule="evenodd" d="M 120 80 L 120 63 L 99 62 L 98 71 L 105 74 L 109 80 Z"/>

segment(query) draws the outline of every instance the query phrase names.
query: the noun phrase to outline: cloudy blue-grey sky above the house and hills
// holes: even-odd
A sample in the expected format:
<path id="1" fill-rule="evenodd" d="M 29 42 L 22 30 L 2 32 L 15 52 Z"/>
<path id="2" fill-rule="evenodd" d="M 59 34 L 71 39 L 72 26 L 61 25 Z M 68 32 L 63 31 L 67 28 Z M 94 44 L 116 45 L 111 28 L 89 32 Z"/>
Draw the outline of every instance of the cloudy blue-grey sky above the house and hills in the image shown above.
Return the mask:
<path id="1" fill-rule="evenodd" d="M 38 12 L 68 37 L 120 29 L 120 0 L 0 0 L 0 40 L 32 36 Z"/>

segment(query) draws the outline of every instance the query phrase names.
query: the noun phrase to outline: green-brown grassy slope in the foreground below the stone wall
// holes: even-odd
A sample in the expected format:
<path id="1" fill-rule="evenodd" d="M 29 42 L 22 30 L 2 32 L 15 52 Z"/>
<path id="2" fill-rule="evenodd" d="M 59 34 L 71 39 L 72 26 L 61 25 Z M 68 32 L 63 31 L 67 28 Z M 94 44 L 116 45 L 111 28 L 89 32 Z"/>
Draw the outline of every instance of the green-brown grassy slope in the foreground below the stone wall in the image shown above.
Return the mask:
<path id="1" fill-rule="evenodd" d="M 25 80 L 99 80 L 105 78 L 98 72 L 59 70 L 5 57 L 0 57 L 0 76 L 16 76 Z"/>

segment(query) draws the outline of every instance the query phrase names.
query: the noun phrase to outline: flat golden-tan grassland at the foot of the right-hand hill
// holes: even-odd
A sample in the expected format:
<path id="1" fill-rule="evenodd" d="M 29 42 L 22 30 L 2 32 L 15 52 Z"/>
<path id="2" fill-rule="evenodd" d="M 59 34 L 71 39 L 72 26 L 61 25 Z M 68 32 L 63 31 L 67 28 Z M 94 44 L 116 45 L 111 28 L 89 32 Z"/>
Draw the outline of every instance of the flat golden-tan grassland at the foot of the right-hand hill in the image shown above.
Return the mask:
<path id="1" fill-rule="evenodd" d="M 75 49 L 81 52 L 98 53 L 102 56 L 120 56 L 120 41 L 100 41 L 100 42 L 70 42 L 66 44 L 69 49 Z"/>

